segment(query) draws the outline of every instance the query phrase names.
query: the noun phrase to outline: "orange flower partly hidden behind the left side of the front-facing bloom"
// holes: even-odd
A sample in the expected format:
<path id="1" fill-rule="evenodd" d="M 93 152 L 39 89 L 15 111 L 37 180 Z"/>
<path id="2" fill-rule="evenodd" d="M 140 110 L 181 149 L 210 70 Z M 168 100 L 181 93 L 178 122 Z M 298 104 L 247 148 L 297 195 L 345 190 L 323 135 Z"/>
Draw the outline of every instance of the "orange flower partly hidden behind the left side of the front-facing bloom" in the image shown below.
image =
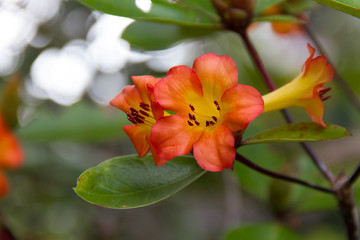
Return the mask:
<path id="1" fill-rule="evenodd" d="M 161 166 L 166 161 L 157 156 L 149 142 L 151 127 L 164 115 L 153 95 L 153 87 L 159 79 L 153 76 L 134 76 L 131 79 L 135 85 L 126 86 L 110 104 L 125 112 L 128 120 L 134 124 L 124 126 L 123 130 L 131 139 L 138 155 L 143 157 L 151 150 L 155 164 Z"/>

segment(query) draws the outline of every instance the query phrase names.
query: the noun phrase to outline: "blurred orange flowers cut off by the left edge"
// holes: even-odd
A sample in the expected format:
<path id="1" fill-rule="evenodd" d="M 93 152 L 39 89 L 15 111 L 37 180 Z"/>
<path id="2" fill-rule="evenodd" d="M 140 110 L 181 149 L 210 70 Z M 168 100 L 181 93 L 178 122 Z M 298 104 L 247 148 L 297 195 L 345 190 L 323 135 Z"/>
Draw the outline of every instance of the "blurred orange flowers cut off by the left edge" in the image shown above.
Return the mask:
<path id="1" fill-rule="evenodd" d="M 3 170 L 16 169 L 22 161 L 23 152 L 20 144 L 0 115 L 0 198 L 8 192 L 8 182 Z"/>

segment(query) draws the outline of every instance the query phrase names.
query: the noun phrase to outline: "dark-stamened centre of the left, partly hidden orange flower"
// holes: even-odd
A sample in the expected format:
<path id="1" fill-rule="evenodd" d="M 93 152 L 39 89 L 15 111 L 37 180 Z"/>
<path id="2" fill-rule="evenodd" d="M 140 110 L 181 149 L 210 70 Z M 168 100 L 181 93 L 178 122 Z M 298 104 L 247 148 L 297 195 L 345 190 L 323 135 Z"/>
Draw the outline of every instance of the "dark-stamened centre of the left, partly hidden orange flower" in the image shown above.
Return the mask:
<path id="1" fill-rule="evenodd" d="M 133 124 L 141 124 L 152 126 L 155 124 L 154 116 L 151 112 L 150 105 L 144 102 L 139 103 L 139 108 L 135 109 L 130 106 L 130 112 L 126 112 L 127 119 Z"/>

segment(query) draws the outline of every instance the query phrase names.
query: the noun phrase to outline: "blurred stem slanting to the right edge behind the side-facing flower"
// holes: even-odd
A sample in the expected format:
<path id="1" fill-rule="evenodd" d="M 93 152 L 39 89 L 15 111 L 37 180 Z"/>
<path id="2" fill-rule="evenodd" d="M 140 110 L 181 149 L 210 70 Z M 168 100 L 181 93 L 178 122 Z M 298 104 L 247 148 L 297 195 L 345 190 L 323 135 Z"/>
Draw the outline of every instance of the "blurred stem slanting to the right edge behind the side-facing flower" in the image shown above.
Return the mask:
<path id="1" fill-rule="evenodd" d="M 328 63 L 331 66 L 333 66 L 334 76 L 335 76 L 334 79 L 335 79 L 336 83 L 339 84 L 340 88 L 344 91 L 345 96 L 348 97 L 350 102 L 360 111 L 360 99 L 358 98 L 356 93 L 351 89 L 351 87 L 346 83 L 344 78 L 336 70 L 336 68 L 334 67 L 335 65 L 329 59 L 329 55 L 325 51 L 325 48 L 323 47 L 323 45 L 321 44 L 319 39 L 313 34 L 313 32 L 311 31 L 311 29 L 309 28 L 309 26 L 307 24 L 304 25 L 304 29 L 305 29 L 307 35 L 309 36 L 309 38 L 311 39 L 311 41 L 313 41 L 313 43 L 317 46 L 320 54 L 324 55 L 326 57 Z"/>

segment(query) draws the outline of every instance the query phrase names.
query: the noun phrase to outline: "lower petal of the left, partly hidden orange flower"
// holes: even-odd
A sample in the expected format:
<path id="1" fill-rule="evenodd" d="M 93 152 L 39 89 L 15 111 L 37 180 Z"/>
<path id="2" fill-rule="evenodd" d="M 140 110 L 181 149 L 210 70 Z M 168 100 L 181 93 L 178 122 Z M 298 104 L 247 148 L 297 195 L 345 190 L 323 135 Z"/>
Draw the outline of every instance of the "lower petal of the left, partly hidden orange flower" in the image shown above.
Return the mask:
<path id="1" fill-rule="evenodd" d="M 144 125 L 126 125 L 123 126 L 123 130 L 126 132 L 131 142 L 134 144 L 134 147 L 139 157 L 145 156 L 150 149 L 148 143 L 150 128 L 146 128 L 144 127 Z"/>

